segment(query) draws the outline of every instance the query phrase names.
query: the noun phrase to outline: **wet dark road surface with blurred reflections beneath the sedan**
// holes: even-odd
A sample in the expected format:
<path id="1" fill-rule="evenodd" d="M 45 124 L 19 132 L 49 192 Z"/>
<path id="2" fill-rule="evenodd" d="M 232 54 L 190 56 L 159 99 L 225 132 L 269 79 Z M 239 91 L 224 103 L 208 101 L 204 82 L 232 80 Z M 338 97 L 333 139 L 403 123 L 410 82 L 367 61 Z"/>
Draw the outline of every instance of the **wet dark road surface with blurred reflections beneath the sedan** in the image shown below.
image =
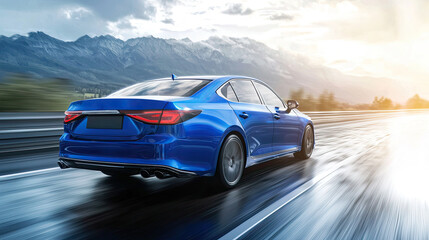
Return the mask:
<path id="1" fill-rule="evenodd" d="M 428 122 L 404 113 L 317 126 L 311 159 L 251 167 L 226 192 L 75 169 L 3 178 L 0 239 L 216 239 L 326 172 L 242 238 L 429 239 Z"/>

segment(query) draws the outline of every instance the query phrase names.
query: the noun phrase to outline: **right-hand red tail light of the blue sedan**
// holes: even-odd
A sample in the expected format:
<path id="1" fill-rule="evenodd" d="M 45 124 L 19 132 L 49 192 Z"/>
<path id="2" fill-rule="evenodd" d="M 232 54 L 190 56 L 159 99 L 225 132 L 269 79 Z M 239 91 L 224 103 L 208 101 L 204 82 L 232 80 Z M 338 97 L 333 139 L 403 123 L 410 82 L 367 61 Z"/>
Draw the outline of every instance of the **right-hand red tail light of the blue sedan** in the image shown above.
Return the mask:
<path id="1" fill-rule="evenodd" d="M 174 125 L 197 116 L 201 110 L 121 111 L 121 113 L 147 124 Z"/>

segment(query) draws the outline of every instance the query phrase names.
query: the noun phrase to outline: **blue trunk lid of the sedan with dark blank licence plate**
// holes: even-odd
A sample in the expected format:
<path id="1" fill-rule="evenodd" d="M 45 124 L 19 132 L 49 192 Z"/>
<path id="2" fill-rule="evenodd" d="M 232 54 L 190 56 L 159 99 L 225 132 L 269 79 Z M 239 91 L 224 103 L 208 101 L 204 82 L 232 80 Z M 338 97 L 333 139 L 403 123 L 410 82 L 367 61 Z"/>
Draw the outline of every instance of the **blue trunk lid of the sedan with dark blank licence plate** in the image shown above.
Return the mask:
<path id="1" fill-rule="evenodd" d="M 138 140 L 155 133 L 157 124 L 147 124 L 128 117 L 127 111 L 162 110 L 168 98 L 101 98 L 77 101 L 69 112 L 80 112 L 76 120 L 65 124 L 72 137 L 85 140 Z"/>

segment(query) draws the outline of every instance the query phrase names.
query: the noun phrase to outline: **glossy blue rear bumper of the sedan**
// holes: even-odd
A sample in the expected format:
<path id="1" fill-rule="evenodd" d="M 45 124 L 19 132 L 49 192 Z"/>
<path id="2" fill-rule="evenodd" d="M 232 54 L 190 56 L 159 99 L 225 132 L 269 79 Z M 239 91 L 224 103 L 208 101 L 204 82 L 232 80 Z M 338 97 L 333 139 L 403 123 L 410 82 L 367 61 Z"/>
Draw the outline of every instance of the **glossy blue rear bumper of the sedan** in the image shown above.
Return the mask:
<path id="1" fill-rule="evenodd" d="M 153 134 L 137 141 L 60 139 L 60 160 L 69 167 L 92 170 L 109 168 L 163 168 L 174 175 L 212 176 L 216 171 L 216 144 Z"/>

